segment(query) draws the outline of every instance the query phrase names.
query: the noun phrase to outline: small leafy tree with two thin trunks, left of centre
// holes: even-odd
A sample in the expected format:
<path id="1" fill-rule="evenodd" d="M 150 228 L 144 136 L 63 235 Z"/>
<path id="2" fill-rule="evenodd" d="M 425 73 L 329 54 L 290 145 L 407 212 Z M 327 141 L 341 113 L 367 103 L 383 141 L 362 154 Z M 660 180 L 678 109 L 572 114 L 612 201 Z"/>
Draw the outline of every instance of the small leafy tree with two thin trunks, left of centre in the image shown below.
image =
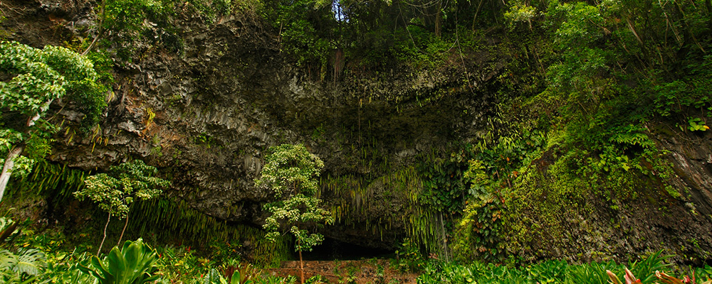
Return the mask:
<path id="1" fill-rule="evenodd" d="M 78 200 L 88 198 L 98 203 L 100 209 L 109 213 L 104 226 L 104 238 L 101 240 L 97 255 L 106 240 L 106 228 L 109 226 L 112 216 L 126 219 L 117 243 L 119 246 L 128 224 L 129 205 L 134 201 L 134 197 L 149 200 L 161 194 L 160 187 L 170 185 L 169 181 L 156 178 L 154 176 L 156 173 L 155 167 L 146 165 L 142 160 L 133 160 L 109 168 L 108 174 L 100 173 L 88 177 L 84 181 L 85 187 L 74 192 L 74 196 Z"/>

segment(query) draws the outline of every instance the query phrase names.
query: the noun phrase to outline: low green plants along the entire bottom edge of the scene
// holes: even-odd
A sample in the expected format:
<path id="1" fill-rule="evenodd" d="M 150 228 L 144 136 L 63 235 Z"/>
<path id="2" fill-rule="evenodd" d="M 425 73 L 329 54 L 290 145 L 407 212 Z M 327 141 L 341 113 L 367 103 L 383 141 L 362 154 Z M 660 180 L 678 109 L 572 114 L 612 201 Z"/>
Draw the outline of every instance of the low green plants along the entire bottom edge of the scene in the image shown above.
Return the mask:
<path id="1" fill-rule="evenodd" d="M 1 219 L 6 221 L 7 219 Z M 9 222 L 4 222 L 4 231 Z M 249 265 L 240 259 L 218 263 L 198 256 L 189 247 L 153 247 L 142 239 L 126 241 L 115 246 L 106 255 L 92 256 L 93 252 L 80 252 L 72 246 L 63 247 L 63 236 L 55 234 L 43 238 L 32 232 L 32 224 L 7 238 L 0 249 L 0 279 L 4 283 L 295 283 L 297 278 L 277 277 L 267 273 L 267 268 Z M 25 232 L 26 231 L 26 232 Z M 403 254 L 394 259 L 394 268 L 404 268 L 418 273 L 417 283 L 661 283 L 708 284 L 712 281 L 712 267 L 675 268 L 666 263 L 661 252 L 629 263 L 592 262 L 570 264 L 565 261 L 542 261 L 509 264 L 484 262 L 455 263 L 430 258 L 409 268 L 399 262 L 412 263 L 414 254 Z M 376 262 L 378 263 L 378 262 Z M 360 271 L 360 267 L 354 267 Z M 363 275 L 355 271 L 337 271 L 340 278 L 330 282 L 319 275 L 305 283 L 364 283 L 350 275 Z M 373 278 L 383 279 L 381 270 L 372 271 Z M 377 275 L 381 273 L 381 277 Z M 333 275 L 328 275 L 333 276 Z M 622 280 L 617 280 L 617 279 Z M 628 279 L 628 280 L 627 280 Z M 345 282 L 344 282 L 345 281 Z M 618 282 L 616 282 L 618 281 Z M 377 283 L 377 282 L 376 282 Z"/>

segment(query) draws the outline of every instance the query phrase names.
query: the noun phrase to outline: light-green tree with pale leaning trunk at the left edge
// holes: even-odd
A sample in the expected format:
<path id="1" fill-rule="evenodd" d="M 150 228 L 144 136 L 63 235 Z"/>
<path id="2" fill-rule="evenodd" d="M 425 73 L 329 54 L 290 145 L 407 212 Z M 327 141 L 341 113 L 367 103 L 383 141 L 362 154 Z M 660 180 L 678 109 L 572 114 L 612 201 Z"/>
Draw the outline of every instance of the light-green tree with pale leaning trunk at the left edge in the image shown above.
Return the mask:
<path id="1" fill-rule="evenodd" d="M 105 91 L 92 62 L 71 50 L 0 42 L 0 200 L 13 173 L 29 173 L 51 150 L 57 127 L 43 119 L 50 104 L 67 96 L 93 125 L 106 107 Z"/>

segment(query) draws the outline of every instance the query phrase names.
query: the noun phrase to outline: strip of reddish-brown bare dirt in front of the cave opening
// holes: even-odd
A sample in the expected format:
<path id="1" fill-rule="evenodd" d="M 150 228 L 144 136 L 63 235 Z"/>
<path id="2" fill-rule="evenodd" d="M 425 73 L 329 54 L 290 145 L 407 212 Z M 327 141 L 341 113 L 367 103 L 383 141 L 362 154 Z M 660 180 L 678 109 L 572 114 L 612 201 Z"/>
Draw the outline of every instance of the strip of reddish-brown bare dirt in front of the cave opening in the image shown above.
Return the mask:
<path id="1" fill-rule="evenodd" d="M 299 279 L 299 261 L 285 261 L 269 273 L 278 276 L 294 275 Z M 321 275 L 325 283 L 343 284 L 416 284 L 416 273 L 402 273 L 390 268 L 389 261 L 304 261 L 304 279 Z"/>

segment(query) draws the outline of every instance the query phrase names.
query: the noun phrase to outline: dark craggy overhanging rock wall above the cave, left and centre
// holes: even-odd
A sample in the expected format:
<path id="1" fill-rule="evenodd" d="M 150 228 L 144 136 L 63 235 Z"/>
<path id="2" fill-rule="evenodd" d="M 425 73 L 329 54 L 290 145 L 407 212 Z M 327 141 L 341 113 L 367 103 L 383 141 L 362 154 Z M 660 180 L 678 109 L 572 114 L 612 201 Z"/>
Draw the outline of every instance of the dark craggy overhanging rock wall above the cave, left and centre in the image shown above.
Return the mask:
<path id="1" fill-rule="evenodd" d="M 93 20 L 86 14 L 88 4 L 9 5 L 20 12 L 4 28 L 23 33 L 8 38 L 38 47 L 88 36 L 75 27 Z M 52 28 L 58 32 L 49 33 Z M 135 43 L 132 60 L 115 62 L 116 83 L 100 131 L 83 135 L 63 129 L 49 158 L 85 170 L 145 159 L 172 175 L 169 195 L 233 222 L 261 222 L 261 204 L 271 197 L 253 180 L 268 146 L 304 143 L 325 160 L 323 176 L 378 180 L 388 170 L 377 170 L 364 156 L 399 169 L 430 148 L 476 137 L 489 102 L 483 85 L 503 67 L 498 63 L 503 58 L 482 52 L 468 62 L 467 84 L 459 65 L 420 71 L 402 66 L 389 74 L 320 80 L 290 62 L 269 28 L 252 18 L 224 16 L 211 24 L 187 19 L 178 28 L 182 53 Z M 69 121 L 81 116 L 66 102 L 54 108 Z M 375 200 L 385 193 L 392 204 L 407 203 L 383 182 L 358 186 L 377 188 L 370 190 Z M 326 233 L 379 247 L 402 238 L 404 207 L 380 204 L 361 212 L 352 219 L 363 224 L 386 222 L 373 221 L 386 215 L 400 218 L 390 218 L 393 229 L 386 236 L 355 226 Z"/>

